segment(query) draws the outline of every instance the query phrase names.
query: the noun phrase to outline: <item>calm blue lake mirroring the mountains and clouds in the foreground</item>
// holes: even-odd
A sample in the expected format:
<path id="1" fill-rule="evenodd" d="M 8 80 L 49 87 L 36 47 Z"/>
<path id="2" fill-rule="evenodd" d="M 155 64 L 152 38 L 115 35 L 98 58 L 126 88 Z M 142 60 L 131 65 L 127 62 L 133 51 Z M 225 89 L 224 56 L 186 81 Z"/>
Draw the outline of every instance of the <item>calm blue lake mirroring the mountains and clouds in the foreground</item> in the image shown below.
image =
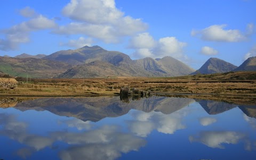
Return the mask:
<path id="1" fill-rule="evenodd" d="M 255 159 L 256 106 L 149 97 L 0 108 L 0 159 Z"/>

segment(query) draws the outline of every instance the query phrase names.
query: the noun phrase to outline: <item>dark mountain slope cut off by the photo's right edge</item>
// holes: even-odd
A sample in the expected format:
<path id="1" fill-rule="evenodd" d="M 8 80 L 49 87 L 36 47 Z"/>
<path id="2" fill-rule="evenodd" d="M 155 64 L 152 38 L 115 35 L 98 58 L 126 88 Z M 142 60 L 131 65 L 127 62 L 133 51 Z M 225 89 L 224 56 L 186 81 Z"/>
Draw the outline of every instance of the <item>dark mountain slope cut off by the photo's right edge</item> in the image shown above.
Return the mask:
<path id="1" fill-rule="evenodd" d="M 250 57 L 234 71 L 256 71 L 256 57 Z"/>

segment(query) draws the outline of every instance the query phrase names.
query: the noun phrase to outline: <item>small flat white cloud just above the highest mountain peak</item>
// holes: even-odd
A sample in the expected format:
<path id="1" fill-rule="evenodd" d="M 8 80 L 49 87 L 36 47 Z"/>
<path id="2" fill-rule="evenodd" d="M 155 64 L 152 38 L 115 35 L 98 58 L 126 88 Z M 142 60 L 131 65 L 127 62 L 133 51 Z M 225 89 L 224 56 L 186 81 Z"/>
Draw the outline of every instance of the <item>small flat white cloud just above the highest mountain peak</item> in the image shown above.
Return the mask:
<path id="1" fill-rule="evenodd" d="M 92 38 L 84 38 L 84 37 L 79 37 L 77 40 L 76 39 L 71 39 L 68 41 L 68 43 L 60 43 L 60 46 L 69 46 L 69 47 L 74 47 L 74 48 L 81 48 L 84 46 L 91 46 L 93 43 Z"/>

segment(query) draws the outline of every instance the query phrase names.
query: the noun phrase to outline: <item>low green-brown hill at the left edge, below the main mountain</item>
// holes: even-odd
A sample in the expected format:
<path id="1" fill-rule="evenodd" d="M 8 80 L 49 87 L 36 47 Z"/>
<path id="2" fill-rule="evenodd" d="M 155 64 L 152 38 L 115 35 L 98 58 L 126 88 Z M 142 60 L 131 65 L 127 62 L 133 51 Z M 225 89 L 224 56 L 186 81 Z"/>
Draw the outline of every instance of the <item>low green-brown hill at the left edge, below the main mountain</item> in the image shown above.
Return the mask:
<path id="1" fill-rule="evenodd" d="M 17 77 L 52 78 L 71 65 L 63 62 L 42 60 L 38 58 L 14 58 L 0 56 L 0 72 Z"/>

